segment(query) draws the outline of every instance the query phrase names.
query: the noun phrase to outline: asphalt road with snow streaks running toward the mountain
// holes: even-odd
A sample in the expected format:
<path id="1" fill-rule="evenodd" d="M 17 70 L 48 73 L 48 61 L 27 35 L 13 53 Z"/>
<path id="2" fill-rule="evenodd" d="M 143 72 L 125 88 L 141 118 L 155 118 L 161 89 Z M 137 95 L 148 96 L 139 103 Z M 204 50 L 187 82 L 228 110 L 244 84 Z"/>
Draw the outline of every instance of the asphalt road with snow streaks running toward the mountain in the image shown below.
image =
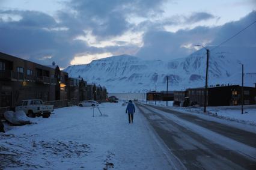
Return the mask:
<path id="1" fill-rule="evenodd" d="M 186 169 L 256 169 L 255 133 L 159 106 L 139 103 L 136 103 L 136 106 L 171 154 L 174 154 Z M 165 112 L 169 117 L 159 114 L 156 109 Z M 172 116 L 175 118 L 172 119 Z M 207 129 L 208 133 L 199 133 L 187 127 L 187 124 Z M 209 135 L 221 138 L 213 140 Z M 222 140 L 223 138 L 225 140 Z"/>

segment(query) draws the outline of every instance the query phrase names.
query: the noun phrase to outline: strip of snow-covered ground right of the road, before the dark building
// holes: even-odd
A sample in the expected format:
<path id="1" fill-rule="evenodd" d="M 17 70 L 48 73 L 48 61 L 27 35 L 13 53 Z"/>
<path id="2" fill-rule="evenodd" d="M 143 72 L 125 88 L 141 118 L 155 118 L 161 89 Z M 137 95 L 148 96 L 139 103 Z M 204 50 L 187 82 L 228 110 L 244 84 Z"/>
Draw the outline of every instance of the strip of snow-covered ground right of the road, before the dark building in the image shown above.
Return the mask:
<path id="1" fill-rule="evenodd" d="M 256 126 L 256 105 L 245 105 L 243 110 L 244 114 L 241 114 L 241 106 L 207 107 L 207 114 L 204 114 L 203 107 L 174 107 L 172 106 L 172 103 L 173 102 L 168 102 L 168 108 L 174 111 L 180 111 L 186 114 L 209 115 L 211 117 L 221 118 L 223 120 L 237 121 L 239 123 L 251 124 Z M 154 105 L 154 102 L 147 102 L 147 104 Z M 166 102 L 156 101 L 156 105 L 166 106 Z"/>

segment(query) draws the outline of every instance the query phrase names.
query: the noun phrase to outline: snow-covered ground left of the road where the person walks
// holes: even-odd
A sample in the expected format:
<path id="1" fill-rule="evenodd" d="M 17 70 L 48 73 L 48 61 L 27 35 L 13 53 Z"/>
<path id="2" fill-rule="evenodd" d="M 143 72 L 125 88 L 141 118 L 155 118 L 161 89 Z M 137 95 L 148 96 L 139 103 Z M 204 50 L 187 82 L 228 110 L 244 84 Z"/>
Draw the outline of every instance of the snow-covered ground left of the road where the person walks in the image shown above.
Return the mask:
<path id="1" fill-rule="evenodd" d="M 0 169 L 172 169 L 143 115 L 129 124 L 122 103 L 55 109 L 34 124 L 0 133 Z"/>

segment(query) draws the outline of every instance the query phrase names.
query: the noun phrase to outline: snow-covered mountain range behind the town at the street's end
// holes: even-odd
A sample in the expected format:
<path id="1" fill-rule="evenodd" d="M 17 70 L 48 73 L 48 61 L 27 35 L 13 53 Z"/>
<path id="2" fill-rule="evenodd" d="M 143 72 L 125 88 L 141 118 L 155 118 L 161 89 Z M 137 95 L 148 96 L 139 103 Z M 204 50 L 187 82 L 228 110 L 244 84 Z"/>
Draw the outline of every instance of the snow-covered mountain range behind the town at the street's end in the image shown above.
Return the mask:
<path id="1" fill-rule="evenodd" d="M 210 48 L 211 49 L 211 48 Z M 219 47 L 210 50 L 209 85 L 241 84 L 245 65 L 245 85 L 256 82 L 255 47 Z M 143 60 L 120 55 L 97 59 L 90 64 L 71 65 L 64 71 L 71 77 L 84 77 L 88 82 L 104 85 L 110 93 L 145 92 L 189 87 L 203 87 L 206 76 L 206 50 L 201 49 L 186 58 L 171 61 Z"/>

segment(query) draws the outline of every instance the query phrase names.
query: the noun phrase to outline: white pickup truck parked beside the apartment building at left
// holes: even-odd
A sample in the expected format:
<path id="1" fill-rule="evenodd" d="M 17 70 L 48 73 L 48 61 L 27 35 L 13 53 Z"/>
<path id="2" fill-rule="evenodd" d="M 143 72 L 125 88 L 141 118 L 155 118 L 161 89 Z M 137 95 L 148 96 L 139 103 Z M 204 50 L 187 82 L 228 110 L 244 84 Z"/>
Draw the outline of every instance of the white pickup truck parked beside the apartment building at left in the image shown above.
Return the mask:
<path id="1" fill-rule="evenodd" d="M 43 100 L 22 100 L 16 107 L 15 111 L 24 111 L 28 117 L 40 117 L 48 118 L 50 112 L 53 112 L 53 105 L 43 105 Z"/>

